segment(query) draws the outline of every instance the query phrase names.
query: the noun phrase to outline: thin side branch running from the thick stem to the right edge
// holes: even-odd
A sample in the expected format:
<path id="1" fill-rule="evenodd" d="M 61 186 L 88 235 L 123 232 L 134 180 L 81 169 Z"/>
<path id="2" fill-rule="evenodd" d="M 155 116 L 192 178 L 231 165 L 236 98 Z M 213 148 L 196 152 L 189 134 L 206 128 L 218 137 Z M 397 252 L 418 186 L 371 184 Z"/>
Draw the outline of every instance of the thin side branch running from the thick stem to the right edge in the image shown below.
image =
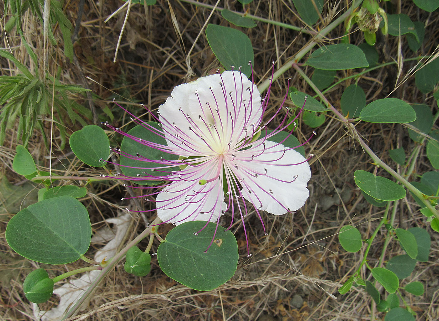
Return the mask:
<path id="1" fill-rule="evenodd" d="M 308 76 L 305 75 L 305 73 L 299 68 L 297 64 L 291 64 L 291 66 L 305 79 L 306 82 L 308 82 L 309 86 L 313 88 L 313 90 L 317 93 L 317 95 L 322 99 L 322 101 L 325 103 L 325 105 L 337 116 L 337 118 L 342 121 L 346 127 L 348 128 L 349 132 L 352 133 L 352 136 L 356 139 L 358 143 L 360 143 L 363 150 L 365 150 L 369 156 L 374 160 L 374 163 L 378 166 L 381 166 L 381 168 L 384 168 L 385 171 L 387 171 L 390 175 L 392 175 L 394 178 L 396 178 L 401 184 L 403 184 L 410 192 L 412 192 L 415 196 L 417 196 L 420 200 L 422 200 L 422 203 L 424 203 L 425 207 L 427 207 L 435 218 L 439 220 L 439 213 L 435 209 L 435 207 L 432 206 L 430 201 L 425 197 L 425 195 L 416 187 L 414 187 L 410 182 L 407 181 L 406 178 L 399 175 L 396 171 L 394 171 L 389 165 L 385 164 L 374 152 L 371 150 L 371 148 L 364 142 L 364 140 L 361 138 L 360 134 L 356 131 L 355 126 L 353 123 L 345 118 L 337 109 L 335 109 L 334 106 L 331 105 L 331 103 L 326 99 L 326 97 L 321 93 L 321 91 L 314 85 L 314 83 L 311 81 L 311 79 L 308 78 Z"/>

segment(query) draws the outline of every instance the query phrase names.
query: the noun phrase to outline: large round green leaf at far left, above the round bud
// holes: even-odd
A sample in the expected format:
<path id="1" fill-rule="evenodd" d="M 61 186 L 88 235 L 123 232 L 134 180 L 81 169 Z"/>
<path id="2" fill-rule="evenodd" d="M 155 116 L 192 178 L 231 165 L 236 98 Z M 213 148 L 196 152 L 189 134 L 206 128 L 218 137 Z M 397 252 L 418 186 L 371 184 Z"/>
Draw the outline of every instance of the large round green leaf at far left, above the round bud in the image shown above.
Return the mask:
<path id="1" fill-rule="evenodd" d="M 91 225 L 86 208 L 72 196 L 30 205 L 6 227 L 12 250 L 30 260 L 66 264 L 79 259 L 90 246 Z"/>

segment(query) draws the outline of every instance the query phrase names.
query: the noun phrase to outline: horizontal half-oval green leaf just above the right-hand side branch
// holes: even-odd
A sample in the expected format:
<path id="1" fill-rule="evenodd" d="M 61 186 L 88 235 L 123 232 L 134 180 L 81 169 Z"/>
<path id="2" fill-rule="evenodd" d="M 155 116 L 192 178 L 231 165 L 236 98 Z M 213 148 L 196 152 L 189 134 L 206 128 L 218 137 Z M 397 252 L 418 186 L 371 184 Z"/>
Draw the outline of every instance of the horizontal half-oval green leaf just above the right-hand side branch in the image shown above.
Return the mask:
<path id="1" fill-rule="evenodd" d="M 413 108 L 397 98 L 378 99 L 368 104 L 360 113 L 360 119 L 370 123 L 409 123 L 416 119 Z"/>

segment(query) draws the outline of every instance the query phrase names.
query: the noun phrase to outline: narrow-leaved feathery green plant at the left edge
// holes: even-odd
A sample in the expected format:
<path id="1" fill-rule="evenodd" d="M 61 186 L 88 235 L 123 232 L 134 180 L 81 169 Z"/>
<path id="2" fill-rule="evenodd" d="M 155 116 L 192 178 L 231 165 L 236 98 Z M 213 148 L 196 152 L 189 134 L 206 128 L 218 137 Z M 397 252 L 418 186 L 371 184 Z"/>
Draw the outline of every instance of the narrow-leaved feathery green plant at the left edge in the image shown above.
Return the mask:
<path id="1" fill-rule="evenodd" d="M 65 127 L 63 118 L 68 116 L 75 123 L 86 125 L 82 116 L 91 118 L 91 112 L 68 98 L 69 93 L 81 93 L 88 89 L 76 86 L 61 85 L 57 79 L 47 77 L 46 83 L 38 76 L 32 75 L 28 69 L 7 51 L 0 50 L 0 56 L 12 61 L 23 74 L 0 76 L 0 105 L 4 107 L 0 114 L 0 144 L 4 143 L 6 129 L 12 128 L 18 118 L 17 139 L 22 139 L 26 146 L 33 135 L 37 124 L 43 128 L 41 117 L 51 113 L 52 92 L 54 93 L 54 111 L 58 114 L 58 127 L 61 134 L 61 149 L 65 144 Z M 56 115 L 55 115 L 56 116 Z"/>

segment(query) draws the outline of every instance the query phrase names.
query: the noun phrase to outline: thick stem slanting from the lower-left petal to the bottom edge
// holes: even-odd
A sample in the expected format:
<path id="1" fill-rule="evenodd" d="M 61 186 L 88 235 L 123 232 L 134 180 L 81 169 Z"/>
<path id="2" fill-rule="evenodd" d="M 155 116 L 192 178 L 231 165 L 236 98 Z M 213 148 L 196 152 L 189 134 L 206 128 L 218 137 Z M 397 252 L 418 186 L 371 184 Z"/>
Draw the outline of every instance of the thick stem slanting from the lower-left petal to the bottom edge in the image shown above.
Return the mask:
<path id="1" fill-rule="evenodd" d="M 159 218 L 155 218 L 155 220 L 151 223 L 151 225 L 159 224 L 161 220 Z M 122 257 L 125 256 L 126 252 L 130 250 L 130 248 L 137 243 L 139 243 L 142 239 L 144 239 L 146 236 L 150 235 L 152 228 L 155 228 L 155 226 L 148 226 L 144 229 L 143 232 L 141 232 L 135 239 L 133 239 L 130 243 L 128 243 L 122 250 L 119 251 L 119 253 L 116 253 L 114 257 L 112 257 L 108 263 L 105 265 L 105 267 L 102 267 L 101 273 L 98 275 L 96 280 L 93 281 L 93 283 L 90 285 L 90 287 L 86 290 L 86 292 L 79 298 L 79 300 L 73 305 L 73 307 L 68 310 L 68 313 L 63 317 L 62 320 L 67 319 L 68 317 L 72 317 L 76 314 L 76 311 L 79 309 L 81 304 L 86 300 L 88 296 L 93 292 L 93 290 L 96 288 L 96 286 L 101 282 L 101 280 L 105 277 L 105 275 L 112 270 L 113 267 L 119 262 L 119 260 L 122 259 Z"/>

